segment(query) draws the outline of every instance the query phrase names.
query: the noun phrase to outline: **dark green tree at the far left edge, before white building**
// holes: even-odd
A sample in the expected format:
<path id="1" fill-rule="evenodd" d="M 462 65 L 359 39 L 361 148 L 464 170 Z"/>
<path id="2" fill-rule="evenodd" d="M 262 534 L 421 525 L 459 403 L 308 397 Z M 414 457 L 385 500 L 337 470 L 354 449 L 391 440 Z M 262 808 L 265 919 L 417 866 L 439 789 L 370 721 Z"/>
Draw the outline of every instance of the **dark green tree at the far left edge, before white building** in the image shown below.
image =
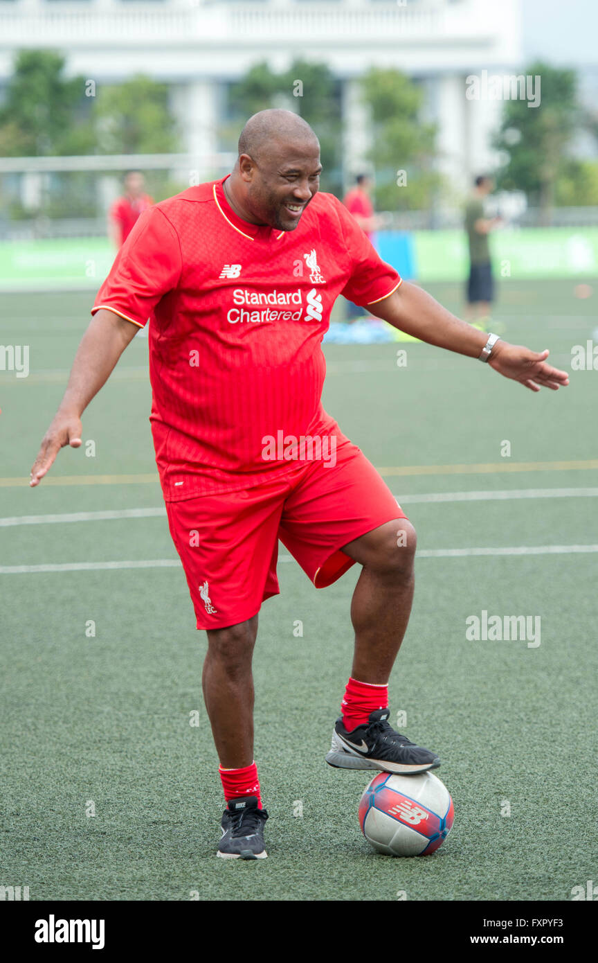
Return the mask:
<path id="1" fill-rule="evenodd" d="M 64 77 L 64 58 L 21 50 L 0 110 L 0 153 L 12 157 L 87 153 L 93 133 L 83 77 Z"/>

